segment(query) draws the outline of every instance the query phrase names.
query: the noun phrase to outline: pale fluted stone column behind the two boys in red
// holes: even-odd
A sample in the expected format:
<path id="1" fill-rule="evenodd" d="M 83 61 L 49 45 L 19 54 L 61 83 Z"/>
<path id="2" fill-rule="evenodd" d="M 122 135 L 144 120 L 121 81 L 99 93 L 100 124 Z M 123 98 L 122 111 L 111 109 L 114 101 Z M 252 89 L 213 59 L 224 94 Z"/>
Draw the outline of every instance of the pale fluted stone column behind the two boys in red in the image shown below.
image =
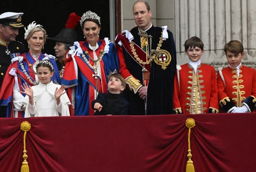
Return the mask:
<path id="1" fill-rule="evenodd" d="M 256 56 L 256 8 L 254 0 L 175 0 L 175 40 L 178 64 L 186 63 L 186 39 L 198 36 L 204 42 L 202 62 L 226 66 L 226 42 L 237 39 L 244 46 L 247 66 Z"/>

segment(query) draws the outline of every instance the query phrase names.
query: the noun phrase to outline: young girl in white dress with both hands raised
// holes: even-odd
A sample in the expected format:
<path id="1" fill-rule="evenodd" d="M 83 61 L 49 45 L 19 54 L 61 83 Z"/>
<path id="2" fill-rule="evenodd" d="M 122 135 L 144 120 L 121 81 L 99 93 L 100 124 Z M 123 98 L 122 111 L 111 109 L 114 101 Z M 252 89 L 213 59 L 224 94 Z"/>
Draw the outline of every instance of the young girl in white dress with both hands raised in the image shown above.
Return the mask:
<path id="1" fill-rule="evenodd" d="M 51 81 L 54 68 L 49 60 L 41 60 L 36 66 L 39 84 L 30 86 L 22 85 L 26 97 L 25 118 L 46 116 L 70 116 L 69 105 L 71 105 L 64 85 L 58 85 Z"/>

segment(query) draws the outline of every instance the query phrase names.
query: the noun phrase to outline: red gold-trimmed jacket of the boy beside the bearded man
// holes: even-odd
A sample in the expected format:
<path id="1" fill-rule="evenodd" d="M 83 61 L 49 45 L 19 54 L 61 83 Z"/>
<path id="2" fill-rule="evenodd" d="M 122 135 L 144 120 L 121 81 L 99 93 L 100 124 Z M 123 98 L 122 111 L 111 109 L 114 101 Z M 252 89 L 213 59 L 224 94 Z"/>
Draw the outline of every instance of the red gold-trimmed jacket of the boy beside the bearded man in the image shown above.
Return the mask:
<path id="1" fill-rule="evenodd" d="M 195 95 L 197 91 L 199 100 Z M 186 63 L 181 66 L 179 76 L 177 71 L 175 75 L 174 113 L 200 112 L 198 104 L 202 105 L 201 113 L 219 112 L 216 72 L 214 67 L 201 63 L 195 74 L 194 69 Z"/>

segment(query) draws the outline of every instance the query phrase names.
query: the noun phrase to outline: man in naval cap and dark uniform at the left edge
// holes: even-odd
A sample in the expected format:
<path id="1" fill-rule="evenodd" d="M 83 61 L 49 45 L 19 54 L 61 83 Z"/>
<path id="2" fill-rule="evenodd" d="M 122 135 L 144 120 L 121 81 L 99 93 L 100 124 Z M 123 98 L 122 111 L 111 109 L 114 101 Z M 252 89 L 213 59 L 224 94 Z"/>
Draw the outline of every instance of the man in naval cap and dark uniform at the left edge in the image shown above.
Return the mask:
<path id="1" fill-rule="evenodd" d="M 0 84 L 6 70 L 11 64 L 13 57 L 19 56 L 19 54 L 25 53 L 25 47 L 22 43 L 15 40 L 18 35 L 19 28 L 23 28 L 22 22 L 23 13 L 5 12 L 0 15 Z M 0 88 L 1 89 L 1 88 Z M 4 107 L 0 106 L 0 117 L 3 113 Z"/>

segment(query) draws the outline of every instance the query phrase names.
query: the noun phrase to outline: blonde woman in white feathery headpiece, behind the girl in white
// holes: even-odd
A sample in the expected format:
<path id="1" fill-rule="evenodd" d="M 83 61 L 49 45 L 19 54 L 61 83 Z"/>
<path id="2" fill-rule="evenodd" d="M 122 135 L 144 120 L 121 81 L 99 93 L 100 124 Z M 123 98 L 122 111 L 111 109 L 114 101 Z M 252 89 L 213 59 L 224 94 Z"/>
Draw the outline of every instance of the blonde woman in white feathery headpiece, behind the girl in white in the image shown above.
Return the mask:
<path id="1" fill-rule="evenodd" d="M 22 99 L 26 94 L 22 91 L 23 83 L 36 85 L 38 83 L 36 65 L 42 59 L 48 59 L 52 62 L 54 69 L 58 71 L 55 57 L 48 54 L 42 54 L 46 42 L 46 30 L 41 25 L 32 22 L 25 28 L 25 39 L 28 42 L 29 52 L 18 57 L 14 57 L 11 65 L 7 69 L 7 74 L 3 80 L 0 91 L 0 105 L 7 106 L 6 117 L 24 117 L 24 108 Z M 60 84 L 60 77 L 55 73 L 51 80 Z"/>

